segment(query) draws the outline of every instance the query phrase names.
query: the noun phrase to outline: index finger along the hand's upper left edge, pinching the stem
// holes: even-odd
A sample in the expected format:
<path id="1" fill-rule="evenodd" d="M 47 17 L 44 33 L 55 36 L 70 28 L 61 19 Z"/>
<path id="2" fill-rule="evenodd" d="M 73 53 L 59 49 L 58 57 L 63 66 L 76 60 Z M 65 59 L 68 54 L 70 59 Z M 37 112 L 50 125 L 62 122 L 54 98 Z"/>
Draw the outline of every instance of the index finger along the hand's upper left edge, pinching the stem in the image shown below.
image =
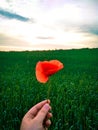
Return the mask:
<path id="1" fill-rule="evenodd" d="M 38 104 L 36 104 L 34 107 L 32 107 L 27 113 L 26 116 L 29 118 L 34 118 L 39 110 L 47 103 L 47 100 L 44 100 Z M 48 103 L 50 103 L 50 100 L 48 100 Z"/>

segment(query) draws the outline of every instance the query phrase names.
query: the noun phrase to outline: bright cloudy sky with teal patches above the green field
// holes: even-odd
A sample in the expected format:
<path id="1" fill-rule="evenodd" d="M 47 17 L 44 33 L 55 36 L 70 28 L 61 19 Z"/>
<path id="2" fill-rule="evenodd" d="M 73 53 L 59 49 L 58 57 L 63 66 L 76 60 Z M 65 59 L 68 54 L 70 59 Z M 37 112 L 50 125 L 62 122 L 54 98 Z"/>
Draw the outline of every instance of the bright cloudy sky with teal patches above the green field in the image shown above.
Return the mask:
<path id="1" fill-rule="evenodd" d="M 0 0 L 0 51 L 98 48 L 98 0 Z"/>

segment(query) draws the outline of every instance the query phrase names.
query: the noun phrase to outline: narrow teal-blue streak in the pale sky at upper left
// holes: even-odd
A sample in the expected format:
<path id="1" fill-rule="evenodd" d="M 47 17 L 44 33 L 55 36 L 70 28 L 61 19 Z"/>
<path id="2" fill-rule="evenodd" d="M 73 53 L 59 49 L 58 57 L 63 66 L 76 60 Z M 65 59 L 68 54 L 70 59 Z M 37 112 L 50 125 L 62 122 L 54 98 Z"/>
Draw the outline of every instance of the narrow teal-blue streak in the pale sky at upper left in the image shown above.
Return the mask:
<path id="1" fill-rule="evenodd" d="M 3 10 L 3 9 L 0 9 L 0 15 L 6 17 L 8 19 L 17 19 L 17 20 L 23 21 L 23 22 L 26 22 L 26 21 L 30 20 L 27 17 L 23 17 L 23 16 L 21 16 L 19 14 L 11 13 L 11 12 Z"/>

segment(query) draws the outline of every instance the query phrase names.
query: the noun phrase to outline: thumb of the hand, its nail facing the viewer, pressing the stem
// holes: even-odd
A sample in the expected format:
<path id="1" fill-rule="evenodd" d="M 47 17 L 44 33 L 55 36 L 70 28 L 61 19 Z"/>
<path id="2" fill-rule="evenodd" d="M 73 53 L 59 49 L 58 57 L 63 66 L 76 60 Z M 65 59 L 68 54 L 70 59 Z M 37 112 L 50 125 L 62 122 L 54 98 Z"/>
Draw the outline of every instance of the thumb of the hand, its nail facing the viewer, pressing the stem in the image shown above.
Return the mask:
<path id="1" fill-rule="evenodd" d="M 39 113 L 37 114 L 36 118 L 39 120 L 39 122 L 43 122 L 48 111 L 50 110 L 50 105 L 48 103 L 46 103 L 41 110 L 39 111 Z"/>

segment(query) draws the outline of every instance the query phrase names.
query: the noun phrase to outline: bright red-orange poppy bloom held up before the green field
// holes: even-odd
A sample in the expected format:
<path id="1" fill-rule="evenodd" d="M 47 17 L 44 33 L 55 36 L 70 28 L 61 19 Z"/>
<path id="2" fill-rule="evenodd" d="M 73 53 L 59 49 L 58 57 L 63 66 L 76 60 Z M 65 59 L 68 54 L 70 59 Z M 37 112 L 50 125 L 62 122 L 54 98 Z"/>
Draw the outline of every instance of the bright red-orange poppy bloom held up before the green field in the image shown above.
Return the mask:
<path id="1" fill-rule="evenodd" d="M 36 78 L 41 83 L 46 83 L 49 76 L 55 74 L 63 68 L 63 64 L 58 60 L 39 61 L 36 64 Z"/>

